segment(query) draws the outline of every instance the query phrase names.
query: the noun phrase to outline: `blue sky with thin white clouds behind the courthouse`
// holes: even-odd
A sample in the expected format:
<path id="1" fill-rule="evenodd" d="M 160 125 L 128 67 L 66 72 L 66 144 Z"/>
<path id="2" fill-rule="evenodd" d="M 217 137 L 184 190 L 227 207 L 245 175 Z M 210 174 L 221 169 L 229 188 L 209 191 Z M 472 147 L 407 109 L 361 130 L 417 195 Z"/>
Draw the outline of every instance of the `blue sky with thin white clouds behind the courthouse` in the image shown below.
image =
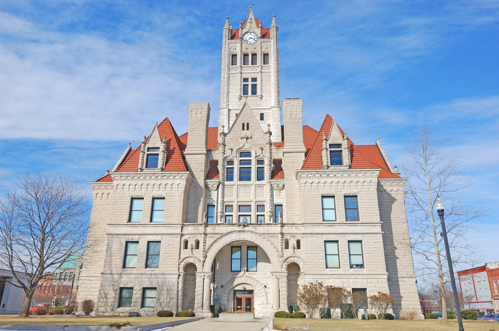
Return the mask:
<path id="1" fill-rule="evenodd" d="M 380 137 L 394 165 L 419 122 L 461 150 L 496 261 L 497 0 L 3 0 L 0 188 L 28 167 L 93 181 L 156 121 L 186 132 L 188 102 L 210 102 L 217 126 L 222 28 L 250 4 L 266 27 L 276 15 L 280 97 L 303 98 L 304 124 L 329 113 L 356 144 Z"/>

